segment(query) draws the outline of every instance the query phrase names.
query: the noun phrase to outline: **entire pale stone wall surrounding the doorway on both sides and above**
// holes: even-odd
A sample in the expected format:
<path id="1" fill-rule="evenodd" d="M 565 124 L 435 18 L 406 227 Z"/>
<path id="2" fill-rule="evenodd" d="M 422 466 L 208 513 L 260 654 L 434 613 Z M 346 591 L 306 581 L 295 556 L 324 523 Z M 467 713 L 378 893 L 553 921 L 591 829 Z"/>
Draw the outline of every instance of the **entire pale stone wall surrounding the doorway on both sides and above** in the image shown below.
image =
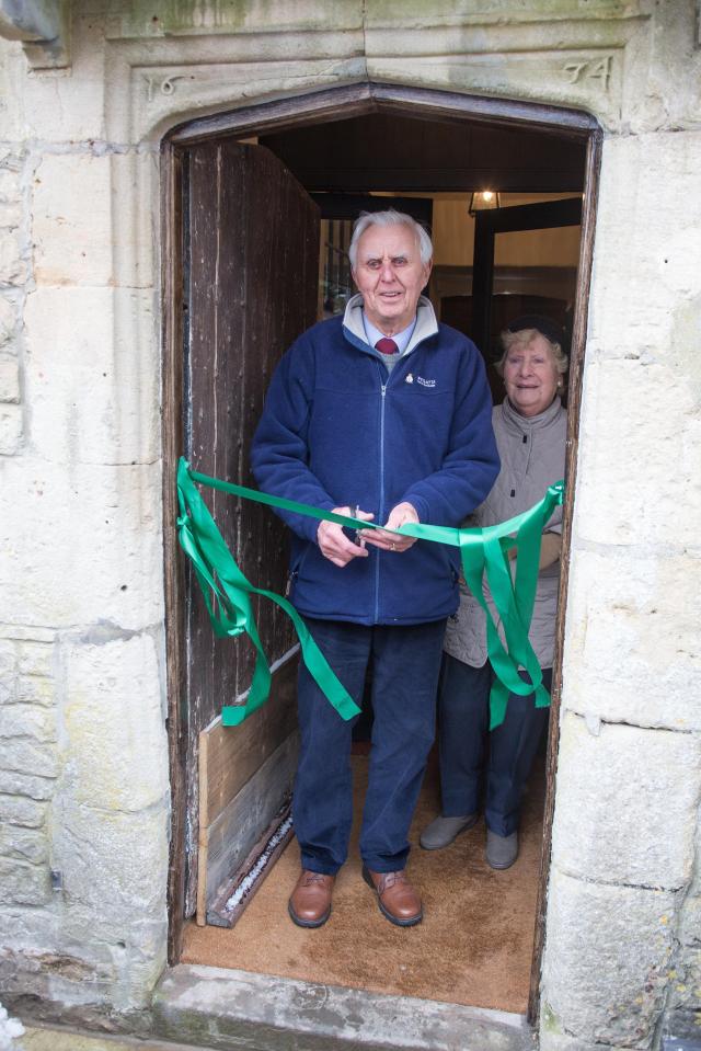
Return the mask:
<path id="1" fill-rule="evenodd" d="M 14 1002 L 127 1012 L 164 962 L 160 138 L 374 79 L 584 108 L 604 128 L 541 1046 L 698 1031 L 696 9 L 74 0 L 65 46 L 0 41 L 0 984 Z"/>

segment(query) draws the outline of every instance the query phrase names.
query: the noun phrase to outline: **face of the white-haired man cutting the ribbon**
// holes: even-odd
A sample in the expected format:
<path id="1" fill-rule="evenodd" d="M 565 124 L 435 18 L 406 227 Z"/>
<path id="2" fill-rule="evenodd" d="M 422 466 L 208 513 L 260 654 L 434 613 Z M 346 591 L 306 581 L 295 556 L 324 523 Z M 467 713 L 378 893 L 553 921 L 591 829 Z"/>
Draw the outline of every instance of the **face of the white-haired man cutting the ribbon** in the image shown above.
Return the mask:
<path id="1" fill-rule="evenodd" d="M 386 335 L 413 320 L 430 263 L 422 263 L 418 238 L 407 226 L 369 226 L 358 241 L 353 278 L 371 324 Z"/>

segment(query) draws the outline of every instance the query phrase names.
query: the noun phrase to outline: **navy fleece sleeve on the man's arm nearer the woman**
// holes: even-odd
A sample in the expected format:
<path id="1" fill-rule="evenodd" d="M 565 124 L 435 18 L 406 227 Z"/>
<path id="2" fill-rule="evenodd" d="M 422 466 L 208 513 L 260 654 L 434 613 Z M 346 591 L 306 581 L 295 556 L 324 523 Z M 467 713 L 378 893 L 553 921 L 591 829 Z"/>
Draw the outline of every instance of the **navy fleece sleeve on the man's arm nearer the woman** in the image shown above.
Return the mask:
<path id="1" fill-rule="evenodd" d="M 499 472 L 492 396 L 482 356 L 466 340 L 458 372 L 450 445 L 439 470 L 415 482 L 402 500 L 421 522 L 458 526 L 487 495 Z"/>

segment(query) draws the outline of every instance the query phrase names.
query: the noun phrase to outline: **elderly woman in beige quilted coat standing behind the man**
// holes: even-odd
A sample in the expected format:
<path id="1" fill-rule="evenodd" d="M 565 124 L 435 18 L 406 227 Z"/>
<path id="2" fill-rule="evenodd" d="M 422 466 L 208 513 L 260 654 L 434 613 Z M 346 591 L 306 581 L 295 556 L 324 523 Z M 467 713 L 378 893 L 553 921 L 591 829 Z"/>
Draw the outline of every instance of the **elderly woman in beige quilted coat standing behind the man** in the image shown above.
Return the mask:
<path id="1" fill-rule="evenodd" d="M 537 315 L 517 318 L 502 333 L 504 354 L 497 369 L 504 377 L 506 398 L 493 410 L 502 470 L 466 525 L 494 525 L 527 511 L 542 499 L 548 485 L 564 476 L 567 414 L 559 397 L 567 368 L 563 336 L 555 321 Z M 544 529 L 529 636 L 548 688 L 561 521 L 558 509 Z M 479 818 L 485 780 L 486 860 L 492 868 L 505 869 L 518 856 L 520 798 L 548 709 L 536 708 L 533 694 L 510 694 L 503 724 L 489 732 L 493 672 L 486 655 L 485 616 L 464 585 L 461 591 L 460 608 L 448 621 L 438 699 L 443 812 L 424 830 L 420 842 L 425 849 L 437 850 L 471 829 Z M 491 602 L 490 606 L 496 620 Z M 520 675 L 529 682 L 526 672 Z"/>

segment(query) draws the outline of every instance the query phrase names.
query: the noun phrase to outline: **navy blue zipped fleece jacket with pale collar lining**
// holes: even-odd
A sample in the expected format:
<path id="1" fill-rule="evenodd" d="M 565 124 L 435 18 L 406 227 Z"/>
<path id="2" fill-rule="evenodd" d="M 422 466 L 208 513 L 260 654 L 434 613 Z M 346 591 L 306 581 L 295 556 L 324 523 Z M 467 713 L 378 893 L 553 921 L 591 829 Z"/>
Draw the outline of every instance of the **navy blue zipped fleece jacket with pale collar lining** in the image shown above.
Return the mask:
<path id="1" fill-rule="evenodd" d="M 422 298 L 412 341 L 388 372 L 355 300 L 281 359 L 251 448 L 255 479 L 264 492 L 324 510 L 358 505 L 379 524 L 409 501 L 421 522 L 457 526 L 499 471 L 482 357 Z M 290 597 L 306 616 L 411 625 L 456 612 L 457 548 L 369 546 L 368 558 L 341 569 L 317 545 L 317 519 L 280 516 L 294 535 Z"/>

